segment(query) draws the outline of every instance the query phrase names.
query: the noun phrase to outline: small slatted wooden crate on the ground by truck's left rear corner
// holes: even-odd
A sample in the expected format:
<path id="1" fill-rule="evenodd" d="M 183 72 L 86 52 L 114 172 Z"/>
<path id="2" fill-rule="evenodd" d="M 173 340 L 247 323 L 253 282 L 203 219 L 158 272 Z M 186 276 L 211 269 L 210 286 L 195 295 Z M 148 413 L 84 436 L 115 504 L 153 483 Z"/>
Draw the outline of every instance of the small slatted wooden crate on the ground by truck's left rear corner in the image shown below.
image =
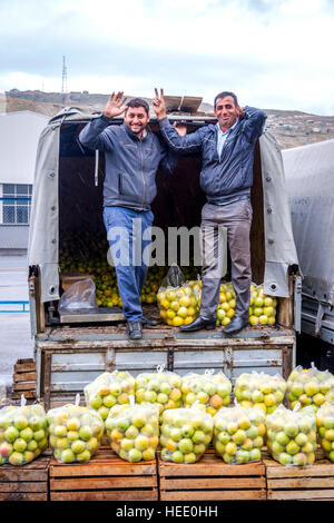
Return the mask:
<path id="1" fill-rule="evenodd" d="M 33 359 L 18 359 L 13 366 L 12 399 L 20 399 L 21 394 L 24 394 L 27 399 L 36 399 L 36 363 Z"/>

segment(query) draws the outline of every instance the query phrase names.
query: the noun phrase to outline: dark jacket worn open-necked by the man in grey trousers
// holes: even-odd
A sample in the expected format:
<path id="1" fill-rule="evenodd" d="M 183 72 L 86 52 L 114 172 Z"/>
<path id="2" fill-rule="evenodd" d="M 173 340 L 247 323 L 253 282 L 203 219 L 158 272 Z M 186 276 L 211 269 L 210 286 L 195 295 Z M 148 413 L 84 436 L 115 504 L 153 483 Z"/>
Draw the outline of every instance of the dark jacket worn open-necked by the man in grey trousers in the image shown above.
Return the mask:
<path id="1" fill-rule="evenodd" d="M 179 136 L 168 118 L 159 120 L 166 144 L 178 154 L 202 154 L 200 187 L 210 204 L 222 205 L 247 197 L 253 185 L 254 147 L 263 132 L 266 115 L 245 107 L 243 119 L 230 130 L 222 155 L 217 152 L 217 128 L 200 127 Z"/>

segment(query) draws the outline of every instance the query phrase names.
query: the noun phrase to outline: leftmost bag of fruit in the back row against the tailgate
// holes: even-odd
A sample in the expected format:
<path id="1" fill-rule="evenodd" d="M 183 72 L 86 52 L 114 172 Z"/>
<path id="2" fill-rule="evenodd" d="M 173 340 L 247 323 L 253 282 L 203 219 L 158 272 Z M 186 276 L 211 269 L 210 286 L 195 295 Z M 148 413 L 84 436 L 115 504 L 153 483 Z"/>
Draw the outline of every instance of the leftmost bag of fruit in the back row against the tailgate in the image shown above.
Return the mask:
<path id="1" fill-rule="evenodd" d="M 114 405 L 129 403 L 135 394 L 135 378 L 127 371 L 102 373 L 84 388 L 86 405 L 97 411 L 104 421 Z"/>

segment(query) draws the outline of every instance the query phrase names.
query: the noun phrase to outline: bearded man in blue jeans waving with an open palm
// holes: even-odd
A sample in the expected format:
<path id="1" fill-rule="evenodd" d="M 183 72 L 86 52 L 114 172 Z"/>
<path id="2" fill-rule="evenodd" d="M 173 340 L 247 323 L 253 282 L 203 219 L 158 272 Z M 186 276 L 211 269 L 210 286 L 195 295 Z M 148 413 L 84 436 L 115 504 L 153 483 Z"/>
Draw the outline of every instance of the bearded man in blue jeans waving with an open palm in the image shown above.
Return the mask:
<path id="1" fill-rule="evenodd" d="M 150 245 L 155 178 L 159 167 L 171 172 L 177 161 L 147 128 L 148 103 L 135 98 L 124 105 L 125 100 L 122 92 L 112 92 L 102 115 L 81 130 L 79 139 L 84 146 L 105 152 L 104 220 L 127 330 L 132 339 L 139 339 L 143 325 L 157 323 L 143 316 L 140 305 L 149 263 L 145 253 Z M 122 114 L 124 124 L 111 125 L 112 118 Z"/>

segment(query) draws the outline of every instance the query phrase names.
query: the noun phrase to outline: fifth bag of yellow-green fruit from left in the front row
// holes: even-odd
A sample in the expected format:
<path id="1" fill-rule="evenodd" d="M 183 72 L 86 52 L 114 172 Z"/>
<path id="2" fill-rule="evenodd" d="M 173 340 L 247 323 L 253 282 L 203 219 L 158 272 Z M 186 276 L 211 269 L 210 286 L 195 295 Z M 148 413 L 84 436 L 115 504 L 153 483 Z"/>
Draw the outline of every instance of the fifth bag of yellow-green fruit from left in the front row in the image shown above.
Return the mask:
<path id="1" fill-rule="evenodd" d="M 214 447 L 228 464 L 261 460 L 265 433 L 265 413 L 261 408 L 236 405 L 222 408 L 214 417 Z"/>

